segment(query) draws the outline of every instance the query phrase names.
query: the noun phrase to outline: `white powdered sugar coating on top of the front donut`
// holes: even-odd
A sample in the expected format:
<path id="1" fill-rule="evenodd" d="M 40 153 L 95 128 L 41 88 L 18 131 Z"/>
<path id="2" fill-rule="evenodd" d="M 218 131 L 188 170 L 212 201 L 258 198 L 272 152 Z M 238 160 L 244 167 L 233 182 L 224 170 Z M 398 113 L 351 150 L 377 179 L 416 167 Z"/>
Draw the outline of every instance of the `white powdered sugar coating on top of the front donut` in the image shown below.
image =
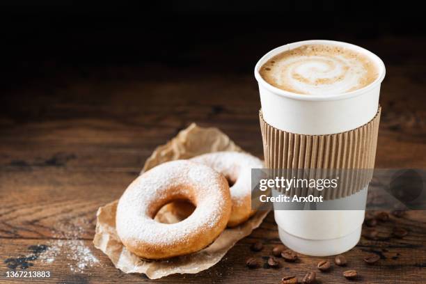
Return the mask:
<path id="1" fill-rule="evenodd" d="M 166 245 L 184 242 L 199 230 L 214 228 L 223 214 L 221 175 L 212 168 L 191 161 L 170 161 L 139 176 L 120 198 L 116 214 L 116 228 L 120 237 Z M 179 223 L 159 223 L 152 219 L 150 205 L 163 203 L 166 196 L 180 193 L 189 196 L 196 188 L 196 210 Z"/>

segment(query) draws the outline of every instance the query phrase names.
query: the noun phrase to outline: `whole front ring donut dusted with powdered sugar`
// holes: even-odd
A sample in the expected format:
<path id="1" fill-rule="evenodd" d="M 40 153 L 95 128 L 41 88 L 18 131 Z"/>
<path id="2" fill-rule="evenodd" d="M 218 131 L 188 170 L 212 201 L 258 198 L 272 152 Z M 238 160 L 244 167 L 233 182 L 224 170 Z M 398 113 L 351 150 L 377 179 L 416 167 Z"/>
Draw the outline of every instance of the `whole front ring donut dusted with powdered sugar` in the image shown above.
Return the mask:
<path id="1" fill-rule="evenodd" d="M 196 210 L 179 223 L 153 218 L 173 200 L 189 200 Z M 220 173 L 187 160 L 169 161 L 140 175 L 117 205 L 121 242 L 142 258 L 161 259 L 194 253 L 226 228 L 231 210 L 228 182 Z"/>

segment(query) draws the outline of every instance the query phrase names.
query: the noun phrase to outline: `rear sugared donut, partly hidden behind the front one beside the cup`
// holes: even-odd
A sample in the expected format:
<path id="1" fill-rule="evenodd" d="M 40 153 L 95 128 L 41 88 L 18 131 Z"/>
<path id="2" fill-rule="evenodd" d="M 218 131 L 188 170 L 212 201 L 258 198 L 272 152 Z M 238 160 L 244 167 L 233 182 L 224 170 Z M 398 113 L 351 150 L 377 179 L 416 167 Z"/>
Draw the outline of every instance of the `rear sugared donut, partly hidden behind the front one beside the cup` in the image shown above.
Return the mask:
<path id="1" fill-rule="evenodd" d="M 210 166 L 225 175 L 230 183 L 232 210 L 228 227 L 243 223 L 255 213 L 251 209 L 251 169 L 263 168 L 260 159 L 242 152 L 213 152 L 191 161 Z"/>

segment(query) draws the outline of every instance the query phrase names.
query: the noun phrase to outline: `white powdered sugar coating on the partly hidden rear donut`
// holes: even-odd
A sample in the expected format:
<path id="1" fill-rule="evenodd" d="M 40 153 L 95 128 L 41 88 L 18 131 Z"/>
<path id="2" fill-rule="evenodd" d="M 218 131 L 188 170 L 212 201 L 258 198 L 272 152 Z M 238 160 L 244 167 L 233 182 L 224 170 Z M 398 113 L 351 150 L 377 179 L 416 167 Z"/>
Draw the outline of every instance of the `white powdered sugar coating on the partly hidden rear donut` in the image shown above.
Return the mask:
<path id="1" fill-rule="evenodd" d="M 263 168 L 260 159 L 241 152 L 212 152 L 191 161 L 210 166 L 235 182 L 230 187 L 233 203 L 240 203 L 251 194 L 251 169 Z"/>

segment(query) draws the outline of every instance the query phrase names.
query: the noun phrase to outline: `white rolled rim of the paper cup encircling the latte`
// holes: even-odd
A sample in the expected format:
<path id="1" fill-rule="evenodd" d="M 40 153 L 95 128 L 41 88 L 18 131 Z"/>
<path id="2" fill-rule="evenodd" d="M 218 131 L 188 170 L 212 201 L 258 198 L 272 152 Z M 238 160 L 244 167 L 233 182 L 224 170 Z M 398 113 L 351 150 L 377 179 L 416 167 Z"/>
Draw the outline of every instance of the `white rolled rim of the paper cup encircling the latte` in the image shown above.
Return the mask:
<path id="1" fill-rule="evenodd" d="M 353 49 L 356 52 L 360 52 L 361 54 L 365 54 L 370 59 L 372 59 L 372 61 L 374 61 L 374 63 L 377 65 L 377 68 L 379 68 L 379 76 L 377 76 L 377 78 L 374 81 L 372 81 L 371 84 L 368 84 L 367 86 L 365 86 L 363 88 L 359 88 L 357 90 L 352 90 L 351 92 L 347 92 L 347 93 L 339 93 L 339 94 L 336 94 L 336 95 L 306 95 L 306 94 L 293 93 L 293 92 L 290 92 L 290 91 L 287 91 L 287 90 L 281 90 L 280 88 L 276 88 L 276 87 L 272 86 L 267 81 L 265 81 L 265 79 L 263 79 L 262 76 L 260 76 L 260 73 L 259 73 L 260 67 L 262 67 L 262 65 L 264 63 L 266 63 L 266 61 L 268 61 L 269 58 L 271 58 L 271 57 L 273 57 L 273 56 L 275 56 L 275 55 L 277 55 L 281 52 L 284 52 L 285 50 L 294 49 L 294 48 L 299 47 L 301 45 L 312 45 L 312 44 L 325 44 L 325 45 L 337 45 L 337 46 L 341 46 L 341 47 L 348 47 L 349 49 Z M 351 43 L 348 43 L 348 42 L 340 42 L 340 41 L 336 41 L 336 40 L 302 40 L 302 41 L 299 41 L 299 42 L 292 42 L 292 43 L 289 43 L 287 45 L 281 45 L 280 47 L 276 47 L 275 49 L 272 49 L 270 52 L 268 52 L 267 54 L 262 56 L 262 58 L 259 59 L 258 63 L 256 63 L 256 65 L 255 65 L 254 73 L 255 73 L 255 79 L 258 81 L 258 84 L 264 86 L 271 93 L 274 93 L 276 95 L 281 95 L 283 97 L 289 97 L 289 98 L 292 98 L 292 99 L 295 99 L 295 100 L 331 101 L 331 100 L 350 99 L 352 97 L 362 95 L 363 93 L 368 92 L 372 88 L 376 88 L 378 85 L 381 84 L 381 81 L 383 81 L 385 74 L 386 74 L 386 68 L 385 68 L 383 61 L 381 61 L 381 59 L 379 58 L 379 56 L 370 52 L 368 49 L 365 49 L 363 47 L 359 47 L 358 45 L 352 45 Z"/>

